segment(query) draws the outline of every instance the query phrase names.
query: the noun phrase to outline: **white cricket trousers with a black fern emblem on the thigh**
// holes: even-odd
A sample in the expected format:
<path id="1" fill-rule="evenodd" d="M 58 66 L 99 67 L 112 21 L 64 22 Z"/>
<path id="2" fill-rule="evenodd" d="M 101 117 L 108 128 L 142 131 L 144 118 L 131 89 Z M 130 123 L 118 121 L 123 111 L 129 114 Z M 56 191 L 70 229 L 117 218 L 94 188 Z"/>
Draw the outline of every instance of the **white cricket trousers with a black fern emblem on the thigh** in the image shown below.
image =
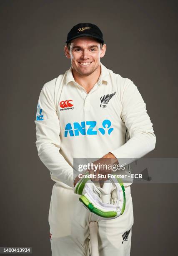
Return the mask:
<path id="1" fill-rule="evenodd" d="M 125 196 L 123 215 L 113 220 L 100 220 L 83 206 L 72 188 L 55 183 L 49 210 L 52 256 L 89 256 L 90 221 L 98 222 L 100 256 L 129 256 L 133 225 L 130 186 L 125 187 Z"/>

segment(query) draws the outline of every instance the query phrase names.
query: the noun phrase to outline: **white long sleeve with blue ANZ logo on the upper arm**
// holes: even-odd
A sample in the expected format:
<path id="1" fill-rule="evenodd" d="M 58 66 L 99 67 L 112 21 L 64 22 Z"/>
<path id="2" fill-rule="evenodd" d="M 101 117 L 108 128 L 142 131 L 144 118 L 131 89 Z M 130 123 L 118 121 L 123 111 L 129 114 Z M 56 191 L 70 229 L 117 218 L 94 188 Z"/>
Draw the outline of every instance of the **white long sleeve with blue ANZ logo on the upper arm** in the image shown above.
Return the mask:
<path id="1" fill-rule="evenodd" d="M 38 156 L 50 172 L 61 182 L 73 187 L 73 167 L 60 154 L 60 125 L 57 115 L 54 91 L 55 81 L 46 83 L 37 106 L 36 146 Z"/>

